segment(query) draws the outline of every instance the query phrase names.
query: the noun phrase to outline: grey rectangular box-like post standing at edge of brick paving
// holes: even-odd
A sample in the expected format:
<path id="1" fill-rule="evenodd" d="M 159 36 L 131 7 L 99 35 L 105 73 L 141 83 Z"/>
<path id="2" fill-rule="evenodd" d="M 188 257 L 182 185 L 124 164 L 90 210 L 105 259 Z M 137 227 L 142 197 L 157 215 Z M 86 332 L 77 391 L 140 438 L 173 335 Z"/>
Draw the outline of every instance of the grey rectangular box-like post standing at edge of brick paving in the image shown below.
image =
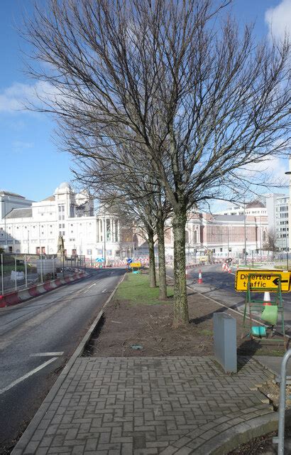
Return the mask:
<path id="1" fill-rule="evenodd" d="M 236 319 L 226 313 L 214 313 L 213 324 L 214 356 L 226 373 L 236 373 Z"/>

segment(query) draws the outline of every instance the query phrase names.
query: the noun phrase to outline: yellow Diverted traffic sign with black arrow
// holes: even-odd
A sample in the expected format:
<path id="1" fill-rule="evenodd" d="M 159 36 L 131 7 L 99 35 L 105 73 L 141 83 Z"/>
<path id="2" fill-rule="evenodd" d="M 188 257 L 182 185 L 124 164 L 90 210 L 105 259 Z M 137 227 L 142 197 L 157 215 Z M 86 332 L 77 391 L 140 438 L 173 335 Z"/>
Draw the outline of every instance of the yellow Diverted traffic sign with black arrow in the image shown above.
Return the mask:
<path id="1" fill-rule="evenodd" d="M 279 278 L 281 277 L 281 291 L 288 292 L 290 287 L 290 272 L 283 272 L 282 270 L 237 270 L 236 271 L 236 291 L 246 291 L 248 286 L 249 274 L 256 274 L 251 277 L 251 291 L 258 291 L 258 289 L 267 288 L 270 292 L 278 291 Z"/>

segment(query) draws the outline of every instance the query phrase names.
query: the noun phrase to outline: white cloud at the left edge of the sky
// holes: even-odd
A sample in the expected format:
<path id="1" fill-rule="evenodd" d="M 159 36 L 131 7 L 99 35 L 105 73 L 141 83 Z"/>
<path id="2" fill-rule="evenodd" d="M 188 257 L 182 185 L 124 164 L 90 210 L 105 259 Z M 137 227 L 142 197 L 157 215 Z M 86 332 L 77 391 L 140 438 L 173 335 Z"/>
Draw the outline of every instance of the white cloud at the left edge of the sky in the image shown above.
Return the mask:
<path id="1" fill-rule="evenodd" d="M 0 112 L 30 112 L 27 106 L 39 105 L 39 100 L 55 97 L 55 89 L 48 82 L 35 82 L 33 85 L 14 82 L 0 91 Z"/>

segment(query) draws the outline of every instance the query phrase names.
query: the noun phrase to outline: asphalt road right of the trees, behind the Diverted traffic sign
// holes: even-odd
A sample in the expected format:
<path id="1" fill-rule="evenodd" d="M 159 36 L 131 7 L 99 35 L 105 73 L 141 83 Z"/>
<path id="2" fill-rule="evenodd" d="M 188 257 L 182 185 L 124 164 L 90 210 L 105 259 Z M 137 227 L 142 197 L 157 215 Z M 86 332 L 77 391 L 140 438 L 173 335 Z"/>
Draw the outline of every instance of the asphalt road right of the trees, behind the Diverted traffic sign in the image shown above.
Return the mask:
<path id="1" fill-rule="evenodd" d="M 226 273 L 221 269 L 221 264 L 204 265 L 202 270 L 202 284 L 198 284 L 199 268 L 188 270 L 187 285 L 205 296 L 219 303 L 243 312 L 245 292 L 236 292 L 234 289 L 235 274 Z M 170 274 L 170 273 L 169 273 Z M 253 294 L 257 298 L 258 294 Z M 271 293 L 271 299 L 272 297 Z M 285 331 L 291 336 L 291 293 L 282 294 L 285 317 Z"/>

